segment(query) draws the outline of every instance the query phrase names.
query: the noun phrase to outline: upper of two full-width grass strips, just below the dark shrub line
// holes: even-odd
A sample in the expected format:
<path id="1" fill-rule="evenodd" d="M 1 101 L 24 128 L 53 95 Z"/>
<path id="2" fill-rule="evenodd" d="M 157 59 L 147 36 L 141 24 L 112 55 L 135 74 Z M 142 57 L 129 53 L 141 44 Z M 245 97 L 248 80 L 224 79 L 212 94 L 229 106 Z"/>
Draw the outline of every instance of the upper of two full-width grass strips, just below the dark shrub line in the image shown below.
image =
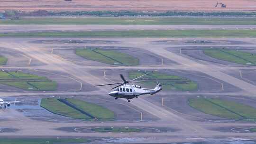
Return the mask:
<path id="1" fill-rule="evenodd" d="M 8 25 L 256 25 L 256 18 L 19 18 Z"/>

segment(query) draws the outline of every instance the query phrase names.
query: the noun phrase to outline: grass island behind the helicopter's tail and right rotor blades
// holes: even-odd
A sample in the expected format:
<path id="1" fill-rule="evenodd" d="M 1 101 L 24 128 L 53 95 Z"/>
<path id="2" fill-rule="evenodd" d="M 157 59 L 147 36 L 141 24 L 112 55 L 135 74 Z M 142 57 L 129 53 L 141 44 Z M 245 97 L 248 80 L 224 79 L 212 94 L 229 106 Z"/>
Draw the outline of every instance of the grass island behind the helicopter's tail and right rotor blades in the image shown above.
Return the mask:
<path id="1" fill-rule="evenodd" d="M 134 79 L 138 76 L 141 76 L 145 74 L 144 72 L 129 72 L 129 79 Z M 140 80 L 146 80 L 146 79 L 154 79 L 155 81 L 143 81 L 139 82 L 143 84 L 145 87 L 154 88 L 157 84 L 157 81 L 163 85 L 163 90 L 181 90 L 181 91 L 192 91 L 197 90 L 198 86 L 197 83 L 194 81 L 190 81 L 189 79 L 176 76 L 176 75 L 168 75 L 161 72 L 153 72 L 150 74 L 147 74 L 143 77 L 143 79 Z M 161 81 L 161 79 L 169 79 L 168 81 Z M 173 79 L 173 80 L 172 80 Z M 174 81 L 175 80 L 175 81 Z M 186 81 L 186 82 L 182 82 Z"/>

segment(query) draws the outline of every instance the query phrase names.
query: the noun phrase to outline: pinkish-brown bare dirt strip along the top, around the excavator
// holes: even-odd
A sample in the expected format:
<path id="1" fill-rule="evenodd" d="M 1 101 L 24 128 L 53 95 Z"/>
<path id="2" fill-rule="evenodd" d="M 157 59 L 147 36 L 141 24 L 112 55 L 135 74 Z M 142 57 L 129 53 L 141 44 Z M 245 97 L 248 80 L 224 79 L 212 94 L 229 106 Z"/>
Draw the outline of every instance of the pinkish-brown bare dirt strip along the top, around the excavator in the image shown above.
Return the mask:
<path id="1" fill-rule="evenodd" d="M 215 8 L 217 0 L 1 0 L 0 10 L 256 10 L 255 0 L 219 0 L 227 8 Z M 219 5 L 220 6 L 220 5 Z"/>

